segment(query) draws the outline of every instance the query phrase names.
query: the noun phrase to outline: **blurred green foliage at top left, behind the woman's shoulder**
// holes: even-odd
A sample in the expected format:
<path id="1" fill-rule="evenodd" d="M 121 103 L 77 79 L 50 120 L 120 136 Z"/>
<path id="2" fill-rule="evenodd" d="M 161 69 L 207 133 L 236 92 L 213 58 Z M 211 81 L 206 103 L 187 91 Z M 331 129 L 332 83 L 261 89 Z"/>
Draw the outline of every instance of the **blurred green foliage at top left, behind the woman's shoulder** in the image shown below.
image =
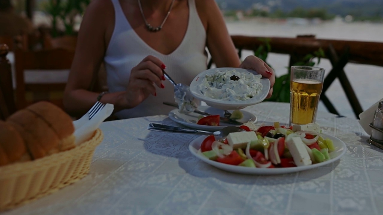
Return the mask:
<path id="1" fill-rule="evenodd" d="M 57 22 L 60 20 L 65 27 L 65 34 L 74 34 L 75 17 L 82 15 L 90 0 L 48 0 L 44 11 L 52 16 L 52 36 L 58 35 Z"/>

